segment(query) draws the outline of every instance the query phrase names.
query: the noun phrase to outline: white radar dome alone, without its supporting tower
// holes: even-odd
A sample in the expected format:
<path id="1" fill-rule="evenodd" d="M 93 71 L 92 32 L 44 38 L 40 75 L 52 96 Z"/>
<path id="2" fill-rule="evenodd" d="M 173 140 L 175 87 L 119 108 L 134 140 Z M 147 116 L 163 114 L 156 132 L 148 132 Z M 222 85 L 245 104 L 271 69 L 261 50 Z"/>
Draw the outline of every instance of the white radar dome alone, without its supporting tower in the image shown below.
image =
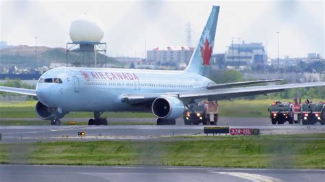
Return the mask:
<path id="1" fill-rule="evenodd" d="M 72 42 L 100 42 L 104 36 L 99 20 L 88 14 L 71 22 L 69 34 Z"/>

